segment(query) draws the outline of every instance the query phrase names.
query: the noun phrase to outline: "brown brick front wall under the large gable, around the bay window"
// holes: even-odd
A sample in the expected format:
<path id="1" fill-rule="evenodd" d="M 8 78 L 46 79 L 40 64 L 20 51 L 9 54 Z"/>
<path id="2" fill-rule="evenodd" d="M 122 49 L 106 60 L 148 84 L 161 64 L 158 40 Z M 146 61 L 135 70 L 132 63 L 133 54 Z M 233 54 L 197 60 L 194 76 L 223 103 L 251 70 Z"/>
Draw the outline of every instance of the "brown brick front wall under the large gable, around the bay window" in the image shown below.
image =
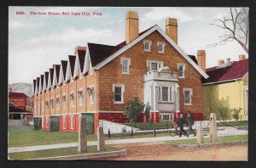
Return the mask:
<path id="1" fill-rule="evenodd" d="M 172 48 L 166 40 L 155 31 L 145 39 L 151 40 L 151 52 L 143 50 L 143 41 L 120 54 L 117 58 L 98 70 L 99 74 L 99 110 L 122 111 L 125 104 L 113 104 L 113 84 L 124 84 L 124 102 L 135 96 L 143 102 L 143 74 L 148 70 L 147 59 L 164 61 L 164 66 L 169 66 L 172 71 L 177 72 L 177 64 L 186 66 L 185 78 L 178 79 L 180 87 L 180 108 L 191 112 L 202 111 L 201 75 L 192 65 L 183 59 L 183 56 Z M 165 53 L 158 53 L 157 42 L 165 42 Z M 122 75 L 120 58 L 131 58 L 130 75 Z M 193 88 L 192 105 L 184 105 L 183 88 Z"/>

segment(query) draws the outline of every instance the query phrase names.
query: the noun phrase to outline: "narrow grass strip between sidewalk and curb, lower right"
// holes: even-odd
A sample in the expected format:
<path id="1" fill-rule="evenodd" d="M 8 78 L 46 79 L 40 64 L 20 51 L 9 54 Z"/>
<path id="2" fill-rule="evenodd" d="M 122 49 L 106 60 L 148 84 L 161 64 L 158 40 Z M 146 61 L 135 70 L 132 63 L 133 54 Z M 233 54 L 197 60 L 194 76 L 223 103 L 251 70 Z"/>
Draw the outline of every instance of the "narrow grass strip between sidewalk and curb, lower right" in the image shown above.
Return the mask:
<path id="1" fill-rule="evenodd" d="M 234 141 L 242 141 L 247 140 L 247 135 L 239 135 L 239 136 L 225 136 L 225 137 L 218 137 L 218 143 L 229 143 Z M 166 143 L 172 144 L 197 144 L 196 138 L 193 139 L 183 139 L 183 140 L 172 140 L 166 141 Z M 205 143 L 209 143 L 209 138 L 205 137 Z"/>

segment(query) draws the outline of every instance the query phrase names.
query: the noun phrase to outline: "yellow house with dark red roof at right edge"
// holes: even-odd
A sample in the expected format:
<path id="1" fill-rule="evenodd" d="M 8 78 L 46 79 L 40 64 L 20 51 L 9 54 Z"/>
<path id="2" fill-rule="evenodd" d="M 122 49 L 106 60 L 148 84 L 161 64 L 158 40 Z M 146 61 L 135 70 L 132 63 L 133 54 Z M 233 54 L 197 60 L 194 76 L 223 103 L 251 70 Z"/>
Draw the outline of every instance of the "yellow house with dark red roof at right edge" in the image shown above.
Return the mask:
<path id="1" fill-rule="evenodd" d="M 248 59 L 239 56 L 239 61 L 218 61 L 218 66 L 208 68 L 207 79 L 202 79 L 204 117 L 218 109 L 240 109 L 242 120 L 248 117 Z M 219 116 L 219 115 L 218 115 Z M 230 112 L 228 120 L 234 120 Z"/>

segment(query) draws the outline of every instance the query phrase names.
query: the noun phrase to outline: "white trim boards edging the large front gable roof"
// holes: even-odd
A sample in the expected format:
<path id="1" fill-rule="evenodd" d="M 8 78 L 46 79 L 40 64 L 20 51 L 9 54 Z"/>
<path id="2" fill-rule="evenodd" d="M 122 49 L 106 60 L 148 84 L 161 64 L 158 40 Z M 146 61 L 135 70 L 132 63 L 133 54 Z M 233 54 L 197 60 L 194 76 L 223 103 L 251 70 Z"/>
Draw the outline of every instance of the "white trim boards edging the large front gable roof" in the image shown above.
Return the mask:
<path id="1" fill-rule="evenodd" d="M 101 69 L 102 66 L 104 66 L 105 64 L 108 64 L 108 62 L 118 57 L 121 53 L 124 53 L 127 49 L 131 48 L 132 46 L 137 44 L 137 42 L 140 42 L 141 40 L 143 40 L 143 38 L 153 33 L 154 31 L 158 31 L 162 36 L 164 36 L 166 38 L 166 41 L 169 42 L 172 45 L 172 47 L 175 48 L 177 52 L 180 53 L 183 56 L 183 58 L 186 59 L 189 62 L 189 64 L 191 64 L 195 68 L 195 70 L 197 70 L 201 74 L 201 76 L 203 76 L 206 79 L 209 77 L 207 76 L 206 72 L 201 70 L 201 68 L 197 64 L 195 64 L 195 62 L 192 59 L 190 59 L 189 56 L 186 53 L 184 53 L 183 50 L 179 48 L 177 44 L 173 42 L 172 39 L 166 35 L 166 32 L 163 31 L 158 25 L 154 25 L 154 27 L 152 27 L 150 30 L 143 33 L 142 36 L 138 36 L 137 39 L 127 44 L 124 48 L 119 49 L 117 52 L 108 56 L 107 59 L 104 59 L 101 63 L 96 64 L 95 69 L 96 70 Z"/>

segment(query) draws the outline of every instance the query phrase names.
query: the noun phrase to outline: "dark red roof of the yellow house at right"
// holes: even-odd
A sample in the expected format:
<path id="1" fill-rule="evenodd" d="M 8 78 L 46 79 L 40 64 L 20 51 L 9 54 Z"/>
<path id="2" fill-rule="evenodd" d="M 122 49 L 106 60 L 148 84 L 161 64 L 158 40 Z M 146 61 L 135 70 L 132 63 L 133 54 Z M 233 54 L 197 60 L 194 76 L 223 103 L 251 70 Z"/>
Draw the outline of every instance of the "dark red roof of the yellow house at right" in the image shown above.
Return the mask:
<path id="1" fill-rule="evenodd" d="M 202 79 L 203 84 L 240 79 L 248 72 L 248 59 L 235 61 L 226 66 L 222 64 L 222 66 L 208 68 L 206 71 L 210 77 Z"/>

